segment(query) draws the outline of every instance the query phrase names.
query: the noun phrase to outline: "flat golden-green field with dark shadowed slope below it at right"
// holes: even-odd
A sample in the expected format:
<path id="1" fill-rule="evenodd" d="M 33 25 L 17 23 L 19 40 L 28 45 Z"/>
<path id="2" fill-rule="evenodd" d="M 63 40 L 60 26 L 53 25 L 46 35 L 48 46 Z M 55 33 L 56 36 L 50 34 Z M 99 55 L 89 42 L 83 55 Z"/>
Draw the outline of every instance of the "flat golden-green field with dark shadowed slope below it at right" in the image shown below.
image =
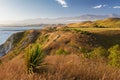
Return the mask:
<path id="1" fill-rule="evenodd" d="M 97 43 L 105 48 L 120 44 L 120 28 L 71 28 L 91 32 Z"/>

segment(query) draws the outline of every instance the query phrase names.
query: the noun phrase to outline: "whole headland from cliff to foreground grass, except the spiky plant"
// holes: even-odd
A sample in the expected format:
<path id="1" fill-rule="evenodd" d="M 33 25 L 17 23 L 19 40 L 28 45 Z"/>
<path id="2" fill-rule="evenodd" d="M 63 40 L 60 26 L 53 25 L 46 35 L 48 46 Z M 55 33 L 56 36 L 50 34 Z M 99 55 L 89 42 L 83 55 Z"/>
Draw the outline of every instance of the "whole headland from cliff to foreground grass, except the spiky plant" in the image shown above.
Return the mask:
<path id="1" fill-rule="evenodd" d="M 117 62 L 110 64 L 113 52 L 109 50 L 120 45 L 120 30 L 92 29 L 58 26 L 11 35 L 0 46 L 0 53 L 4 55 L 0 58 L 0 80 L 119 80 L 120 59 L 112 57 Z M 36 72 L 28 74 L 25 55 L 34 50 L 32 44 L 41 45 L 46 56 Z"/>

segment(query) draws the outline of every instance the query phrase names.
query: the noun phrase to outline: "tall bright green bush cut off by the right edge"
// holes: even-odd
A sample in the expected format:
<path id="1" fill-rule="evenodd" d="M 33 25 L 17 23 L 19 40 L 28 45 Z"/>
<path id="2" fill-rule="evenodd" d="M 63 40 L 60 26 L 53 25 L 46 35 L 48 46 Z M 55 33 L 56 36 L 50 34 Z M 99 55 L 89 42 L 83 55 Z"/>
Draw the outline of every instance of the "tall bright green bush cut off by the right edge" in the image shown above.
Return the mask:
<path id="1" fill-rule="evenodd" d="M 109 64 L 114 67 L 120 68 L 120 45 L 115 45 L 111 47 L 109 50 Z"/>

